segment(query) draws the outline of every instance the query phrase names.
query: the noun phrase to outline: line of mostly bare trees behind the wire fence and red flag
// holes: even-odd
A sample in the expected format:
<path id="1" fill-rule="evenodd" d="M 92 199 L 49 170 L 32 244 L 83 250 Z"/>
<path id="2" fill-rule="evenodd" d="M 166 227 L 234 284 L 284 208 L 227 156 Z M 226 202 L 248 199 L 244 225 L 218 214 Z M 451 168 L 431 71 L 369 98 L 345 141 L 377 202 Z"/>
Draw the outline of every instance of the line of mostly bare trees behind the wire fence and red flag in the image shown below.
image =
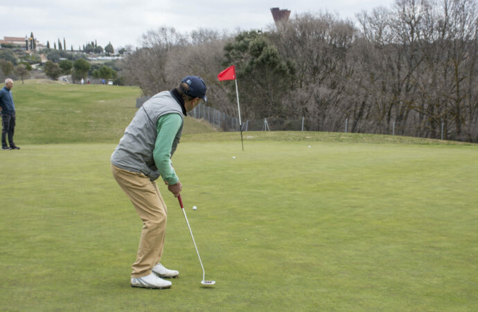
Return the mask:
<path id="1" fill-rule="evenodd" d="M 216 75 L 236 65 L 242 119 L 305 117 L 309 130 L 478 141 L 475 0 L 396 0 L 357 15 L 302 14 L 266 31 L 188 35 L 159 28 L 122 64 L 150 95 L 202 76 L 209 105 L 237 115 L 235 86 Z M 442 132 L 443 130 L 443 132 Z"/>

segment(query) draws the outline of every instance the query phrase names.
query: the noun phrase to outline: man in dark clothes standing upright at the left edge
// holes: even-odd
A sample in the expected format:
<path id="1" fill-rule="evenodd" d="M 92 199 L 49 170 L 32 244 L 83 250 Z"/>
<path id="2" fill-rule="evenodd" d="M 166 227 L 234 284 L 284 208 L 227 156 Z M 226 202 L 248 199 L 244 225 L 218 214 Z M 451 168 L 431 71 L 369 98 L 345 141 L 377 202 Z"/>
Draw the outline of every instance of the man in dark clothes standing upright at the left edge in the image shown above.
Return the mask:
<path id="1" fill-rule="evenodd" d="M 0 107 L 1 107 L 1 149 L 19 150 L 20 148 L 13 143 L 13 134 L 15 133 L 15 104 L 12 96 L 13 80 L 7 78 L 5 87 L 0 89 Z M 7 136 L 8 143 L 7 144 Z"/>

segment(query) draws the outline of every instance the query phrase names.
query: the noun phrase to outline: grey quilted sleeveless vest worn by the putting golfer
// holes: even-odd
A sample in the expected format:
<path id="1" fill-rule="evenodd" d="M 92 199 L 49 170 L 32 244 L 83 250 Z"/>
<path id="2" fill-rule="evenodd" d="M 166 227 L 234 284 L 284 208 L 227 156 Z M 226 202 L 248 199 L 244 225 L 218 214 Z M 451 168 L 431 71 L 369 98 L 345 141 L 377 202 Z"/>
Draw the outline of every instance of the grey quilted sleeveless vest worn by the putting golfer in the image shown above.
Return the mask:
<path id="1" fill-rule="evenodd" d="M 153 150 L 157 138 L 157 121 L 165 114 L 179 114 L 184 121 L 181 105 L 170 91 L 163 91 L 146 101 L 134 115 L 125 135 L 112 154 L 112 164 L 127 171 L 143 173 L 151 181 L 157 180 L 159 171 L 154 164 Z M 179 128 L 172 144 L 171 156 L 175 153 L 183 130 Z"/>

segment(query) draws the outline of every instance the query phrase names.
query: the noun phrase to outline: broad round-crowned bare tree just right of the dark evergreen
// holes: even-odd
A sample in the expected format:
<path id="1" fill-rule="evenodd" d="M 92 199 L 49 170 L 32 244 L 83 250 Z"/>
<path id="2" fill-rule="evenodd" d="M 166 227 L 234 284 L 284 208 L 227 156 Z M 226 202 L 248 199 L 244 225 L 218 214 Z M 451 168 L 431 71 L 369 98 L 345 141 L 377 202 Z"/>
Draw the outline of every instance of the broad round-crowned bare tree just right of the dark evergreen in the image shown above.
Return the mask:
<path id="1" fill-rule="evenodd" d="M 347 53 L 356 33 L 351 21 L 328 13 L 297 15 L 270 31 L 278 51 L 296 67 L 296 84 L 285 98 L 289 114 L 306 116 L 309 128 L 338 130 L 350 112 Z"/>

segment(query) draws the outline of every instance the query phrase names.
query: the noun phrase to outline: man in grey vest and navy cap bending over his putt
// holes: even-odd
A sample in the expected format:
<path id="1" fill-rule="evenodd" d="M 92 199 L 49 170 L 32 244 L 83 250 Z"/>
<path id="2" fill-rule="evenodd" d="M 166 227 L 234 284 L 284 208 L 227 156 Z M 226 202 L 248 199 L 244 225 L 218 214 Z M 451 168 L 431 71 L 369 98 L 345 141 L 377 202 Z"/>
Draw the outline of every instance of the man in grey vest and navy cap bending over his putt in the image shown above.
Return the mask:
<path id="1" fill-rule="evenodd" d="M 155 180 L 161 176 L 168 190 L 179 196 L 179 182 L 170 158 L 181 137 L 184 116 L 206 99 L 206 85 L 187 76 L 179 87 L 163 91 L 145 102 L 134 115 L 112 155 L 112 173 L 143 220 L 143 230 L 132 265 L 131 286 L 170 288 L 162 279 L 177 277 L 159 261 L 166 232 L 166 205 Z"/>

